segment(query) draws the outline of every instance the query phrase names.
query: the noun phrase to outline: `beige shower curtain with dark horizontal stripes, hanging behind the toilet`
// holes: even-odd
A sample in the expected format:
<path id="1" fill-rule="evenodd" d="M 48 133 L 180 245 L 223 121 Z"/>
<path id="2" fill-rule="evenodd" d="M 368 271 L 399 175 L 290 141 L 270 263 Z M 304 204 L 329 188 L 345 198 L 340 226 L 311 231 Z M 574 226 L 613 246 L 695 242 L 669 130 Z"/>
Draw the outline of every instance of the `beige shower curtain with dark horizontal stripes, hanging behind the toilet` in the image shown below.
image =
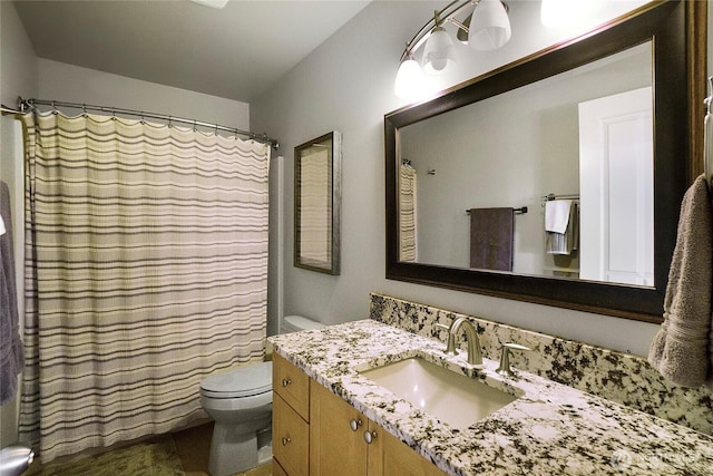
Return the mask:
<path id="1" fill-rule="evenodd" d="M 143 120 L 27 115 L 21 439 L 42 462 L 204 417 L 262 360 L 270 147 Z"/>

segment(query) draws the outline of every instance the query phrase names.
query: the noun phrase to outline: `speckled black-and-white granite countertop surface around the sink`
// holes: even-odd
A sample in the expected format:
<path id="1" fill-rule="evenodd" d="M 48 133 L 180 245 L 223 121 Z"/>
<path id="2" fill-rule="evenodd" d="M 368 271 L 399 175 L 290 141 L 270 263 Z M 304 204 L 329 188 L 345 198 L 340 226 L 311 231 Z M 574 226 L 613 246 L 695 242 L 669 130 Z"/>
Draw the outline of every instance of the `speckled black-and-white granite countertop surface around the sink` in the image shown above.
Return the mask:
<path id="1" fill-rule="evenodd" d="M 524 371 L 466 363 L 465 352 L 373 320 L 273 336 L 274 351 L 451 475 L 713 475 L 713 437 Z M 456 428 L 359 371 L 421 357 L 514 402 Z"/>

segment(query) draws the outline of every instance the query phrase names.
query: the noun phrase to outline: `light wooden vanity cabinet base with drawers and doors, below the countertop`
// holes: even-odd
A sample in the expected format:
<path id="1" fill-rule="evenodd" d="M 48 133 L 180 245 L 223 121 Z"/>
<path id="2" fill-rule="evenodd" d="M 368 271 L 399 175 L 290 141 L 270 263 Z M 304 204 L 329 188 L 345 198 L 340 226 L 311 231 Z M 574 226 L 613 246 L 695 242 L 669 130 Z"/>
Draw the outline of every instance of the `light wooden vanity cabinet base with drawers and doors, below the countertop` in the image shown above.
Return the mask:
<path id="1" fill-rule="evenodd" d="M 445 474 L 280 354 L 273 377 L 273 475 Z"/>

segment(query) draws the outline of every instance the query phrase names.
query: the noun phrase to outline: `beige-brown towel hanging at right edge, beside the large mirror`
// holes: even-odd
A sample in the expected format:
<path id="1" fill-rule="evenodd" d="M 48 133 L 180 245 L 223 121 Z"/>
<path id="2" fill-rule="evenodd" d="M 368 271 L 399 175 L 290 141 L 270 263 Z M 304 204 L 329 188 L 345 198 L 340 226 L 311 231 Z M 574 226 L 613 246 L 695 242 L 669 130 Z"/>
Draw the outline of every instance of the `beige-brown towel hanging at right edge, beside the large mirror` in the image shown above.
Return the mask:
<path id="1" fill-rule="evenodd" d="M 704 383 L 713 365 L 709 350 L 712 234 L 713 206 L 701 175 L 683 197 L 664 298 L 664 322 L 648 351 L 648 362 L 666 379 L 684 387 Z"/>

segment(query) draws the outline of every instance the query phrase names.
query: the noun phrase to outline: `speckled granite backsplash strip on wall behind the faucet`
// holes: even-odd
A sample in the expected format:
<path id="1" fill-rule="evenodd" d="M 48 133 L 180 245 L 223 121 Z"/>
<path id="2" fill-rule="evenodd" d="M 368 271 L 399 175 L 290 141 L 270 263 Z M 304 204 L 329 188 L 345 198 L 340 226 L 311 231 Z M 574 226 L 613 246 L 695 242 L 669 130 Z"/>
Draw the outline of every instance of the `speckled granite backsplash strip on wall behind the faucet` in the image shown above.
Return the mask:
<path id="1" fill-rule="evenodd" d="M 446 339 L 436 323 L 465 317 L 480 334 L 482 354 L 498 359 L 504 342 L 533 352 L 512 354 L 516 367 L 713 436 L 713 388 L 684 388 L 666 381 L 645 358 L 371 293 L 371 319 L 430 339 Z"/>

